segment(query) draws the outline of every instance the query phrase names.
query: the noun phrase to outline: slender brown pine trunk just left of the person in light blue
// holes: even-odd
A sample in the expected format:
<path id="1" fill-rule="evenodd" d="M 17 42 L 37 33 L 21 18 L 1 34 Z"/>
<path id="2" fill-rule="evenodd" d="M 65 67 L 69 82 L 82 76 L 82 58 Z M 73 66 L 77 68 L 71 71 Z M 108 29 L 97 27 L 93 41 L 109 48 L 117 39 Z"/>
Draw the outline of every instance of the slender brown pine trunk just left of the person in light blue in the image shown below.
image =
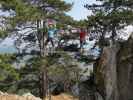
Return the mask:
<path id="1" fill-rule="evenodd" d="M 43 22 L 43 27 L 45 22 Z M 45 57 L 45 33 L 44 32 L 40 32 L 40 26 L 41 26 L 41 21 L 38 20 L 37 21 L 37 38 L 38 38 L 38 43 L 39 43 L 39 48 L 40 48 L 40 57 L 43 58 Z M 48 76 L 47 76 L 47 66 L 42 65 L 41 68 L 43 68 L 43 70 L 41 70 L 41 79 L 40 79 L 40 90 L 41 90 L 41 95 L 43 97 L 43 99 L 45 100 L 47 94 L 48 94 Z"/>

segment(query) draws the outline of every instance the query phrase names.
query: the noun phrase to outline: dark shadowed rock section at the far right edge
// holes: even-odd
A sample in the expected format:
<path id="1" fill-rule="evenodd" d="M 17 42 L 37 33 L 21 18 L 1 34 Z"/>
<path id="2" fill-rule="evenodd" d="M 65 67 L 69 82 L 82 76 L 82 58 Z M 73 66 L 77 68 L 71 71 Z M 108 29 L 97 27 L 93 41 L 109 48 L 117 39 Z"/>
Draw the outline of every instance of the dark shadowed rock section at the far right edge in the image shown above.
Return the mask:
<path id="1" fill-rule="evenodd" d="M 117 54 L 119 100 L 133 100 L 133 35 Z"/>

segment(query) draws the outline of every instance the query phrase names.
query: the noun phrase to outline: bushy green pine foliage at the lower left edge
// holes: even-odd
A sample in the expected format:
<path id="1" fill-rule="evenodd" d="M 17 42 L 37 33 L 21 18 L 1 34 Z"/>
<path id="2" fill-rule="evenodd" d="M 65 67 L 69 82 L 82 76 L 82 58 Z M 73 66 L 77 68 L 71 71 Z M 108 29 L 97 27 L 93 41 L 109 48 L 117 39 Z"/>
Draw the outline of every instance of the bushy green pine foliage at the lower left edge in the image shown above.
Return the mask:
<path id="1" fill-rule="evenodd" d="M 16 82 L 19 80 L 19 73 L 13 67 L 16 60 L 15 55 L 0 55 L 0 87 L 1 91 L 15 92 Z M 14 87 L 14 88 L 13 88 Z"/>

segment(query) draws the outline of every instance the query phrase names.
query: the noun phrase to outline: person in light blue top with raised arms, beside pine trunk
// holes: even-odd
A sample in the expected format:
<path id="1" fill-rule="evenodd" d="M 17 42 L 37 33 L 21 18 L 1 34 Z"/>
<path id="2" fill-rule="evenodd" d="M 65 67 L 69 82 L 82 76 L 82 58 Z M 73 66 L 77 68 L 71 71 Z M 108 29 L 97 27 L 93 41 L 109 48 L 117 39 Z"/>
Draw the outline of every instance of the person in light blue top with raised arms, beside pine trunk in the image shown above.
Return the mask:
<path id="1" fill-rule="evenodd" d="M 56 32 L 57 32 L 57 29 L 55 29 L 54 25 L 49 24 L 48 37 L 47 37 L 45 45 L 47 45 L 48 42 L 51 42 L 52 46 L 54 47 L 55 44 L 53 40 L 54 40 Z"/>

